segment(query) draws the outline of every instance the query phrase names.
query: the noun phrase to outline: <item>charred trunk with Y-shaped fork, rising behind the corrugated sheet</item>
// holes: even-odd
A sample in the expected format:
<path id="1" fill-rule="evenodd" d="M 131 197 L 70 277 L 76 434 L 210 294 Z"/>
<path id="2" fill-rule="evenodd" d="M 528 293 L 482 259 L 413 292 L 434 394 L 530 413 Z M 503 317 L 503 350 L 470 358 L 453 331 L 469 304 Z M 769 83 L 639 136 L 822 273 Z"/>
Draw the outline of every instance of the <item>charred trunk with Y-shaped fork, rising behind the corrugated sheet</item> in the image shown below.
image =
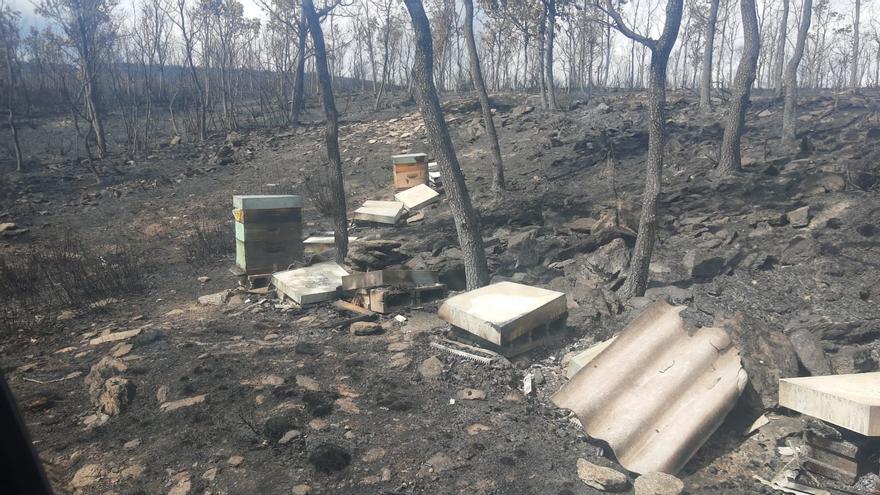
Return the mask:
<path id="1" fill-rule="evenodd" d="M 663 33 L 656 40 L 628 28 L 611 2 L 612 0 L 606 0 L 605 7 L 614 19 L 617 30 L 651 50 L 645 192 L 642 195 L 639 232 L 630 258 L 629 276 L 619 293 L 622 299 L 630 299 L 644 295 L 648 287 L 648 268 L 651 265 L 657 235 L 657 206 L 663 173 L 663 148 L 666 143 L 666 66 L 669 63 L 669 53 L 678 38 L 684 0 L 668 0 Z"/>

